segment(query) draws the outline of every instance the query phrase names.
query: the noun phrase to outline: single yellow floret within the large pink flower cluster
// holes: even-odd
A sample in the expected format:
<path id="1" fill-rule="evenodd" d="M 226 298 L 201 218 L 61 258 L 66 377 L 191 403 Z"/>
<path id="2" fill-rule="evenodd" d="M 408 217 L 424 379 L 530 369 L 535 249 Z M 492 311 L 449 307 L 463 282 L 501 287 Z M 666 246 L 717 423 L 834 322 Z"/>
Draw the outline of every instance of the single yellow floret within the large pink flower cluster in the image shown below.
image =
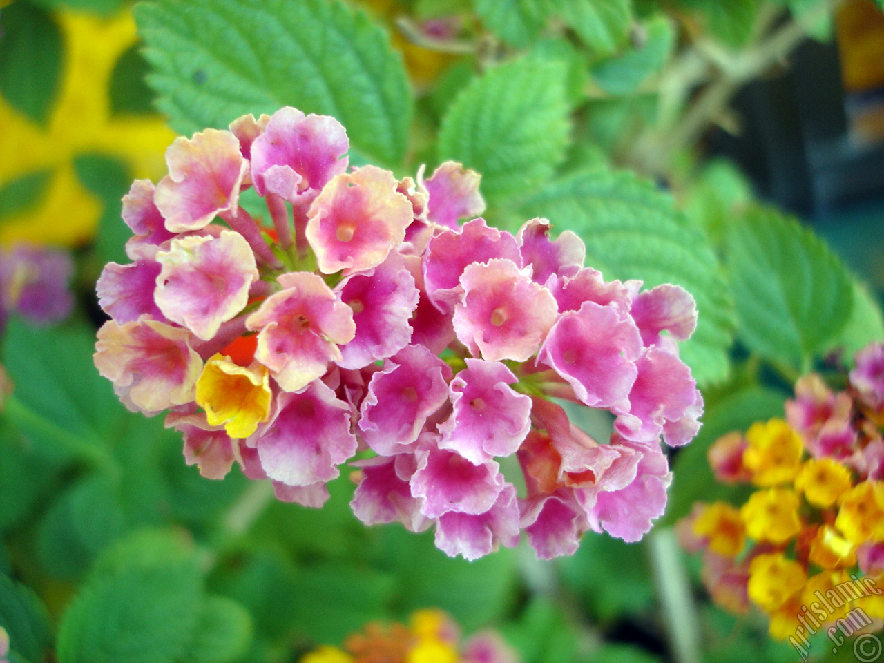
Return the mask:
<path id="1" fill-rule="evenodd" d="M 245 367 L 216 354 L 196 381 L 196 403 L 210 425 L 224 425 L 232 438 L 248 438 L 270 415 L 270 372 L 257 362 Z"/>

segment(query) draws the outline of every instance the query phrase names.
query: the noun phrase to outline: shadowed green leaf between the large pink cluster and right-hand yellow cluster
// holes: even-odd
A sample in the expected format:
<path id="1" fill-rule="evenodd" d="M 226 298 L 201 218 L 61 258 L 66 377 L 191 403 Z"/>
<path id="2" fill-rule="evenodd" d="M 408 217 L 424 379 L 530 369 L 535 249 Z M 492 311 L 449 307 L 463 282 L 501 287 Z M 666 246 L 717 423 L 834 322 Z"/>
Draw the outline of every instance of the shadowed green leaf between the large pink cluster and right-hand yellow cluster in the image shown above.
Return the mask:
<path id="1" fill-rule="evenodd" d="M 683 447 L 673 463 L 673 482 L 669 490 L 666 514 L 657 527 L 673 525 L 690 514 L 694 502 L 712 502 L 716 499 L 739 501 L 749 488 L 745 485 L 722 484 L 713 476 L 706 453 L 713 442 L 730 431 L 745 432 L 752 423 L 782 416 L 781 392 L 758 386 L 728 390 L 728 394 L 707 404 L 703 426 L 697 438 Z"/>

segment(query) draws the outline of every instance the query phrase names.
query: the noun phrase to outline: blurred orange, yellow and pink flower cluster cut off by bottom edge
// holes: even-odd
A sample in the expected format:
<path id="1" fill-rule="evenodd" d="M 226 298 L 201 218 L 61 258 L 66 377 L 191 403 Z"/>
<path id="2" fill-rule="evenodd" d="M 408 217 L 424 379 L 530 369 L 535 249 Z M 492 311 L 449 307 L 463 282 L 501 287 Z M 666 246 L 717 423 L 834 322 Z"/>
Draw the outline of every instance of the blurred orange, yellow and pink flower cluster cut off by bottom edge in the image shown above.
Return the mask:
<path id="1" fill-rule="evenodd" d="M 461 642 L 450 616 L 432 608 L 411 614 L 408 624 L 372 621 L 347 636 L 343 647 L 324 644 L 301 663 L 519 663 L 519 656 L 492 630 Z"/>

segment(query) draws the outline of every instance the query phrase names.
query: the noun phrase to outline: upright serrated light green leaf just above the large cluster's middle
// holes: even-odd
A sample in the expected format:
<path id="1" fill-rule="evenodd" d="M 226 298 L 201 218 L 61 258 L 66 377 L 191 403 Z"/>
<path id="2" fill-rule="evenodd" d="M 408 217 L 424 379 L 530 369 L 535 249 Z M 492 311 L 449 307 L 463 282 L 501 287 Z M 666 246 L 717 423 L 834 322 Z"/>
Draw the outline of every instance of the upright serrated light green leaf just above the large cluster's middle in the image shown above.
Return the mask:
<path id="1" fill-rule="evenodd" d="M 489 205 L 536 191 L 568 145 L 566 73 L 560 63 L 524 58 L 473 80 L 442 120 L 439 160 L 481 173 Z"/>

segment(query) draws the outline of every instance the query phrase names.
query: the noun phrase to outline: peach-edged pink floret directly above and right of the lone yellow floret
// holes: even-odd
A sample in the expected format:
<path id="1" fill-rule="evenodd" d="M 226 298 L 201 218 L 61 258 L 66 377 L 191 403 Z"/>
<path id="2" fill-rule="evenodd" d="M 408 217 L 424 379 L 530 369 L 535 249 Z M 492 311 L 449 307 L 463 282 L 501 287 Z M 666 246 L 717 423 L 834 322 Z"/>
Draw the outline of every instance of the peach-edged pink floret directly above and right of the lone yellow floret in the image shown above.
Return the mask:
<path id="1" fill-rule="evenodd" d="M 353 309 L 339 301 L 316 274 L 294 272 L 278 279 L 283 287 L 246 319 L 258 331 L 255 359 L 269 368 L 286 392 L 297 392 L 322 377 L 342 357 L 339 345 L 354 339 Z"/>

